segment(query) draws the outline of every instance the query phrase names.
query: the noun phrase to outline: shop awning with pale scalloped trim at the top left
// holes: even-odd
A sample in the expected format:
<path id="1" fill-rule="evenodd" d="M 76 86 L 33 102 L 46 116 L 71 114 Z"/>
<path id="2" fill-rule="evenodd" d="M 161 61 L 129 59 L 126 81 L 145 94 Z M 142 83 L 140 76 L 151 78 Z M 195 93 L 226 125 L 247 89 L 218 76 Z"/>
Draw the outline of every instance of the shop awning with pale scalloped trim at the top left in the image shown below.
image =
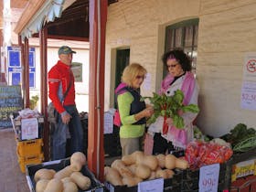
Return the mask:
<path id="1" fill-rule="evenodd" d="M 60 17 L 63 10 L 76 0 L 30 0 L 20 17 L 15 32 L 22 39 L 32 37 L 48 22 Z"/>

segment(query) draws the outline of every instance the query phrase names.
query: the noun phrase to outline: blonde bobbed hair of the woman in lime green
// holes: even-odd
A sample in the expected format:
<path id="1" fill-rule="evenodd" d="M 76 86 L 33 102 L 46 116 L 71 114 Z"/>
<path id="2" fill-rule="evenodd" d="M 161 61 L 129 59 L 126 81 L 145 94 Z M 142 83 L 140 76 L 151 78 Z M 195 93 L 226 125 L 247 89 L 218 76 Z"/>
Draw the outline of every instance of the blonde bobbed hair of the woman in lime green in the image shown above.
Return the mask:
<path id="1" fill-rule="evenodd" d="M 136 78 L 138 75 L 145 75 L 146 74 L 146 69 L 139 63 L 132 63 L 128 66 L 125 67 L 123 70 L 123 76 L 122 76 L 122 81 L 126 83 L 128 86 L 132 86 L 133 80 Z"/>

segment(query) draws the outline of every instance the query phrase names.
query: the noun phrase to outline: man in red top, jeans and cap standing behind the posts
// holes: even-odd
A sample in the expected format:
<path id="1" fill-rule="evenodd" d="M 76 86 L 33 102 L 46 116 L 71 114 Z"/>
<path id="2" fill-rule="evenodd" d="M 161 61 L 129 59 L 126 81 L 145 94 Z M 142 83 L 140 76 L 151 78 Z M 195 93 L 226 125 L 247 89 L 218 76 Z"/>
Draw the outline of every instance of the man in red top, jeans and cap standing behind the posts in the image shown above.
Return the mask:
<path id="1" fill-rule="evenodd" d="M 76 52 L 68 46 L 60 47 L 59 61 L 48 71 L 48 96 L 59 112 L 58 123 L 52 134 L 52 160 L 67 157 L 68 138 L 69 155 L 82 152 L 83 132 L 75 103 L 75 83 L 71 70 L 73 53 Z"/>

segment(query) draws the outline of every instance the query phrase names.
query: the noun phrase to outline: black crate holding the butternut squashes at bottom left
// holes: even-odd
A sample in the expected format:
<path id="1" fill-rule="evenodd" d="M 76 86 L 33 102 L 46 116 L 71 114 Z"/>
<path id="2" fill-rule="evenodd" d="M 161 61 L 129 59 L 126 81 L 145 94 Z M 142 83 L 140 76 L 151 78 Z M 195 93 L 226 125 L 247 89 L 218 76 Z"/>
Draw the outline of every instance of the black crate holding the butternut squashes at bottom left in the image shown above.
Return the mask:
<path id="1" fill-rule="evenodd" d="M 49 161 L 38 165 L 27 165 L 26 172 L 27 172 L 27 185 L 30 189 L 30 192 L 36 192 L 36 182 L 34 180 L 35 173 L 37 170 L 41 168 L 48 168 L 48 169 L 54 169 L 56 171 L 59 171 L 66 167 L 67 165 L 70 165 L 70 159 L 61 159 L 57 161 Z M 91 179 L 91 187 L 86 190 L 87 192 L 103 192 L 104 191 L 104 185 L 101 184 L 99 180 L 96 179 L 96 177 L 91 173 L 87 165 L 83 166 L 80 171 L 84 176 L 88 176 Z M 79 190 L 79 192 L 85 192 L 83 190 Z"/>

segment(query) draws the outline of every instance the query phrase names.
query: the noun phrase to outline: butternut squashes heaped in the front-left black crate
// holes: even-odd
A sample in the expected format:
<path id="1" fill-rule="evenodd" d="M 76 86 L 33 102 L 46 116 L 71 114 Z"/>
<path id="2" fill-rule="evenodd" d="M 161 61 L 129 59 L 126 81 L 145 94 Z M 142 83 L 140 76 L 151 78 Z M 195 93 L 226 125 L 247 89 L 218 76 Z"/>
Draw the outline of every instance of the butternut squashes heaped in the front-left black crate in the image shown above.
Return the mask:
<path id="1" fill-rule="evenodd" d="M 76 152 L 70 157 L 70 165 L 56 172 L 41 168 L 34 176 L 36 192 L 78 192 L 91 187 L 91 179 L 83 176 L 80 170 L 86 165 L 86 156 Z"/>

